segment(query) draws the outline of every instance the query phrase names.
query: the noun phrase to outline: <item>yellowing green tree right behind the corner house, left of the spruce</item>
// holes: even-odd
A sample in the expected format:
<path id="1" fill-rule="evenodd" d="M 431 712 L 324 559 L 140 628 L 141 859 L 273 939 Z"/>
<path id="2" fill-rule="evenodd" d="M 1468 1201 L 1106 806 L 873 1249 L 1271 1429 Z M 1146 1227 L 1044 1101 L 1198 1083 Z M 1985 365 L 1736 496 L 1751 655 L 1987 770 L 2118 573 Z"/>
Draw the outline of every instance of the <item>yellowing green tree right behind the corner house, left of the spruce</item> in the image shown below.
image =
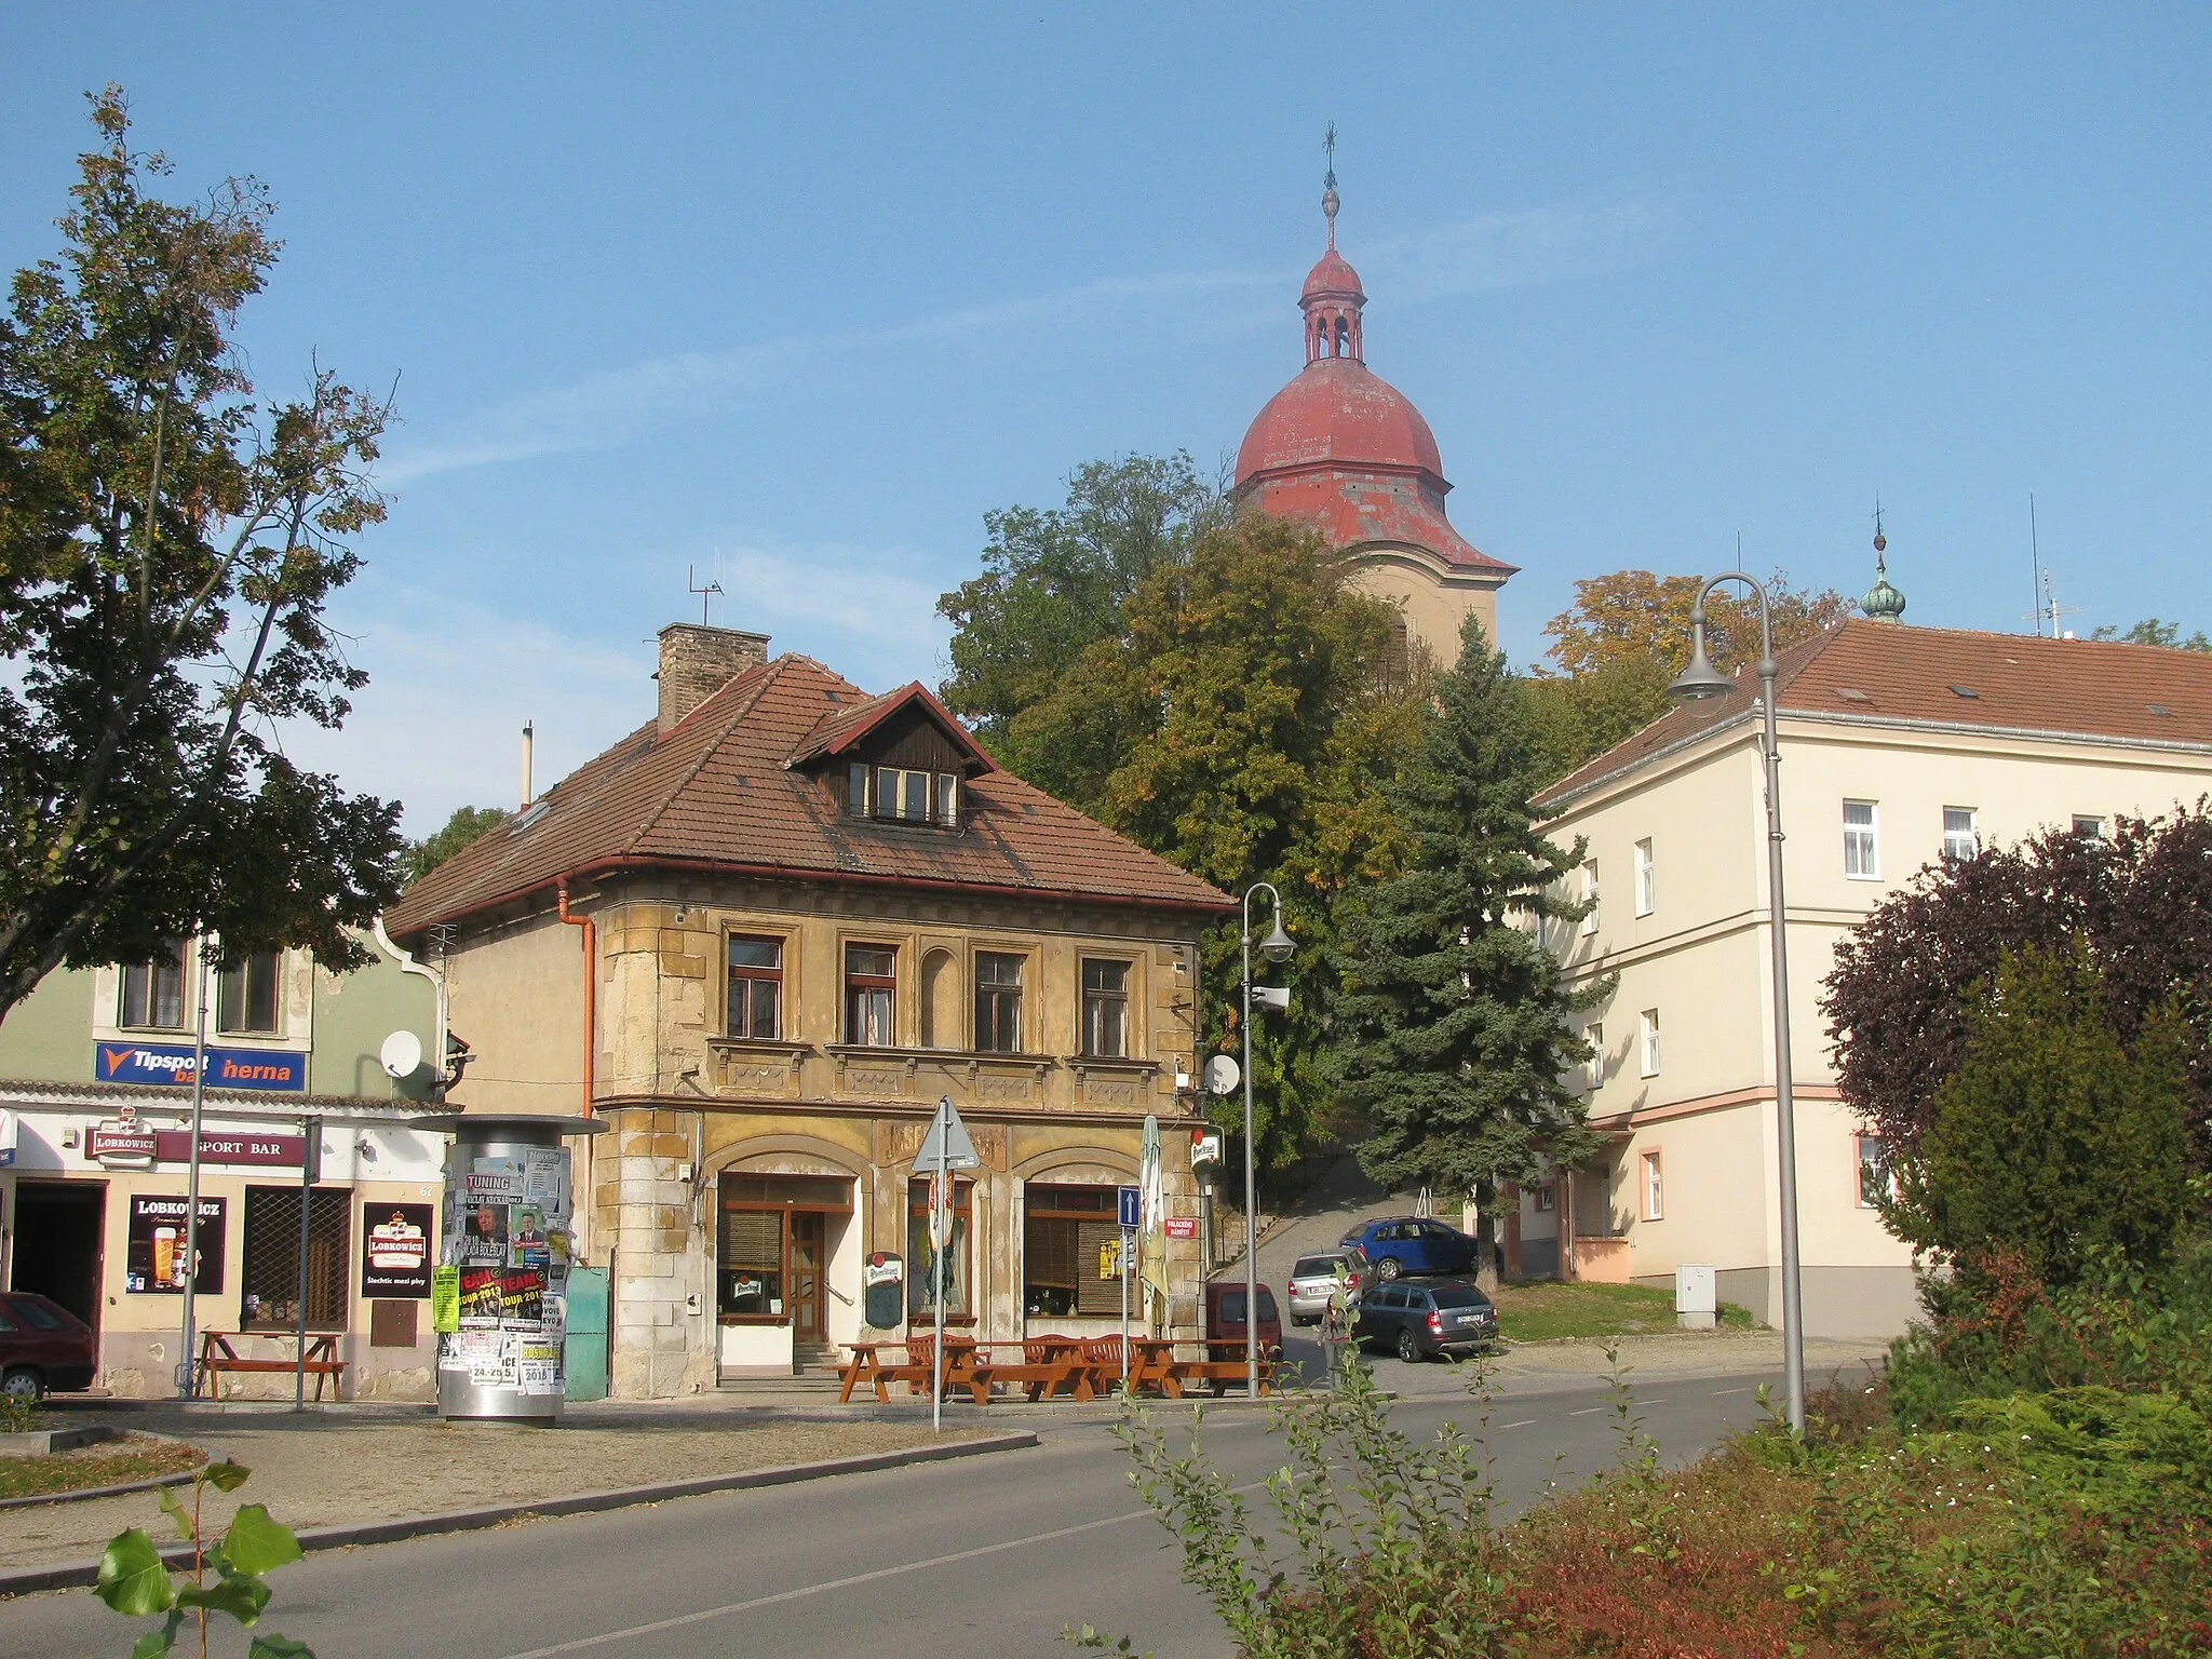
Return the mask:
<path id="1" fill-rule="evenodd" d="M 1137 584 L 1119 635 L 1013 721 L 1042 787 L 1228 894 L 1281 889 L 1298 953 L 1270 978 L 1290 982 L 1292 1009 L 1252 1033 L 1270 1168 L 1327 1126 L 1329 918 L 1354 874 L 1396 863 L 1383 785 L 1420 719 L 1422 690 L 1380 672 L 1396 613 L 1345 575 L 1290 522 L 1212 526 L 1188 562 Z M 1241 1051 L 1237 925 L 1212 929 L 1201 958 L 1203 1042 Z"/>

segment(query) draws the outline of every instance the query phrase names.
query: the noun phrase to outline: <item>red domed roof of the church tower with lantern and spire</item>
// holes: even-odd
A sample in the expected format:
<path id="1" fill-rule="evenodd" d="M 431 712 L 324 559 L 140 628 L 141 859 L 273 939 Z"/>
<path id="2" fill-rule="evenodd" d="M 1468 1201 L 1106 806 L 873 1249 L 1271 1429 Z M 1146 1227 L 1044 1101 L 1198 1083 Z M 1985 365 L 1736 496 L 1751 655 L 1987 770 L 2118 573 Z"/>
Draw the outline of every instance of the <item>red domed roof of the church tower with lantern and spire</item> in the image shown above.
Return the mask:
<path id="1" fill-rule="evenodd" d="M 1367 367 L 1360 274 L 1336 252 L 1336 175 L 1321 199 L 1329 248 L 1298 294 L 1305 369 L 1245 431 L 1237 498 L 1314 522 L 1338 546 L 1396 544 L 1462 571 L 1511 573 L 1444 518 L 1444 460 L 1420 409 Z"/>

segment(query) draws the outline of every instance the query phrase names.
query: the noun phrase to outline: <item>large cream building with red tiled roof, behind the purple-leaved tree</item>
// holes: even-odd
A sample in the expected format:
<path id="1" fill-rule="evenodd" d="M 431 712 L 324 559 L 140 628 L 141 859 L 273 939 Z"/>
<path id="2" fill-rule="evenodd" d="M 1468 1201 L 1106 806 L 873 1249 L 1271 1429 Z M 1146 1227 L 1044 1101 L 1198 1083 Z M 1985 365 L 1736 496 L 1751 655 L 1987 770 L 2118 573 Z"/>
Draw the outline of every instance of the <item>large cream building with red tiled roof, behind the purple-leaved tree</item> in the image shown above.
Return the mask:
<path id="1" fill-rule="evenodd" d="M 1783 867 L 1805 1329 L 1887 1336 L 1911 1252 L 1865 1201 L 1878 1144 L 1840 1102 L 1820 1015 L 1836 942 L 1944 856 L 2051 825 L 2108 834 L 2212 790 L 2212 657 L 1847 622 L 1783 653 Z M 1590 916 L 1557 929 L 1586 1015 L 1604 1168 L 1524 1192 L 1524 1267 L 1672 1283 L 1781 1321 L 1772 964 L 1756 679 L 1666 714 L 1546 794 L 1588 838 Z M 1548 1208 L 1540 1210 L 1540 1197 Z M 1548 1248 L 1546 1248 L 1546 1241 Z"/>

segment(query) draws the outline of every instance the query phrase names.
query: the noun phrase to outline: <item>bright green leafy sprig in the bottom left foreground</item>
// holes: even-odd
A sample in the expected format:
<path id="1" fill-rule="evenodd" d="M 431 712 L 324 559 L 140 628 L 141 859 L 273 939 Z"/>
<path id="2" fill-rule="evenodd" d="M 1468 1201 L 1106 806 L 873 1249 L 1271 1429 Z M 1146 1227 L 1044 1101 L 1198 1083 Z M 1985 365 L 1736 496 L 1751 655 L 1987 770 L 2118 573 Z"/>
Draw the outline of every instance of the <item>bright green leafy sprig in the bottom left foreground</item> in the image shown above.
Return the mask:
<path id="1" fill-rule="evenodd" d="M 270 1604 L 265 1575 L 301 1557 L 292 1528 L 270 1520 L 261 1504 L 241 1504 L 215 1544 L 206 1542 L 199 1522 L 199 1502 L 208 1486 L 237 1491 L 246 1484 L 248 1473 L 234 1462 L 215 1462 L 195 1471 L 190 1513 L 175 1489 L 164 1486 L 157 1493 L 161 1511 L 177 1524 L 177 1537 L 192 1546 L 188 1582 L 170 1577 L 161 1553 L 137 1526 L 108 1540 L 100 1555 L 100 1582 L 93 1586 L 93 1595 L 124 1617 L 161 1615 L 161 1624 L 131 1646 L 131 1659 L 166 1659 L 177 1650 L 177 1632 L 186 1619 L 199 1632 L 201 1659 L 208 1655 L 210 1613 L 237 1619 L 248 1630 L 261 1621 L 261 1613 Z M 215 1584 L 208 1584 L 210 1566 Z M 314 1659 L 314 1650 L 305 1641 L 257 1630 L 248 1641 L 246 1659 Z"/>

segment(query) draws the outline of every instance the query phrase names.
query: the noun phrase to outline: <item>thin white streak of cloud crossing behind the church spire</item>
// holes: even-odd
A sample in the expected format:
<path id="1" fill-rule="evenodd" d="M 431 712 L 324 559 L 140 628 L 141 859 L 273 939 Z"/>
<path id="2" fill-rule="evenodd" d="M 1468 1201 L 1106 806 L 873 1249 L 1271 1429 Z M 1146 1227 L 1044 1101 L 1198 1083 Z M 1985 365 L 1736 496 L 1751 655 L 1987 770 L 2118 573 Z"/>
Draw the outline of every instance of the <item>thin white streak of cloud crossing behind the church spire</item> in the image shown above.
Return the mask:
<path id="1" fill-rule="evenodd" d="M 1433 301 L 1571 281 L 1617 268 L 1661 234 L 1668 219 L 1668 210 L 1648 199 L 1500 212 L 1363 243 L 1358 263 L 1371 290 L 1385 290 L 1394 301 Z M 801 365 L 823 356 L 989 334 L 1079 310 L 1110 310 L 1175 294 L 1214 294 L 1219 299 L 1212 307 L 1190 314 L 1201 332 L 1219 327 L 1225 321 L 1223 312 L 1243 325 L 1254 325 L 1276 307 L 1263 312 L 1252 301 L 1294 283 L 1296 276 L 1298 272 L 1283 270 L 1099 276 L 1044 294 L 967 305 L 887 327 L 796 334 L 730 352 L 648 358 L 493 405 L 422 445 L 400 445 L 385 460 L 380 480 L 403 484 L 469 467 L 602 449 L 677 416 L 726 411 L 748 398 L 770 396 L 794 378 Z"/>

